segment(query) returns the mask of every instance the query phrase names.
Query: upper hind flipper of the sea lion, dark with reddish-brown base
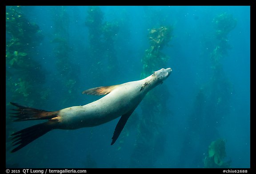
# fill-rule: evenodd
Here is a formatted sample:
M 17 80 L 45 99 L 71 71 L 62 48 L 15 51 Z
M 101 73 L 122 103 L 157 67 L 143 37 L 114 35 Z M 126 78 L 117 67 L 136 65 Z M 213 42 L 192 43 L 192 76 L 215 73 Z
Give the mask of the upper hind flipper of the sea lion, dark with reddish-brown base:
M 12 105 L 16 106 L 16 109 L 12 109 L 13 111 L 17 111 L 12 117 L 17 118 L 13 121 L 26 121 L 26 120 L 48 120 L 58 116 L 59 111 L 51 112 L 51 111 L 44 111 L 35 108 L 29 108 L 26 106 L 21 106 L 17 103 L 12 103 Z

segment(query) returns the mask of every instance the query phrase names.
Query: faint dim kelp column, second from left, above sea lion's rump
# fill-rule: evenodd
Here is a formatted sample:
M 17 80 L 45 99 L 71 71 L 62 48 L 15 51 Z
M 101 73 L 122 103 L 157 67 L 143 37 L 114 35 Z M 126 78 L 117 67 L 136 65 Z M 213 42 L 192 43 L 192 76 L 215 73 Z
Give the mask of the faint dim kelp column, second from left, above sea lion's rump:
M 52 7 L 52 20 L 54 37 L 51 43 L 54 45 L 53 53 L 56 57 L 56 70 L 58 71 L 63 90 L 69 97 L 63 98 L 62 102 L 74 98 L 72 92 L 74 91 L 75 85 L 79 81 L 79 68 L 72 62 L 71 46 L 69 43 L 69 26 L 70 19 L 69 14 L 65 6 L 54 6 Z

